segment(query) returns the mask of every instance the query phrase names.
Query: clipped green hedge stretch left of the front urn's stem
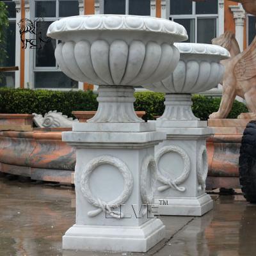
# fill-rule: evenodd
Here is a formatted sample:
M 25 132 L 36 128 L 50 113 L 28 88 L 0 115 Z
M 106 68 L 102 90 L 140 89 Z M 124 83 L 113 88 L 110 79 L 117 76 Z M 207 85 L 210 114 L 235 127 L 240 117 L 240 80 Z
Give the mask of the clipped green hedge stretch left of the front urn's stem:
M 83 91 L 51 91 L 29 89 L 0 90 L 1 113 L 47 113 L 57 110 L 64 115 L 72 116 L 75 110 L 97 110 L 97 95 Z

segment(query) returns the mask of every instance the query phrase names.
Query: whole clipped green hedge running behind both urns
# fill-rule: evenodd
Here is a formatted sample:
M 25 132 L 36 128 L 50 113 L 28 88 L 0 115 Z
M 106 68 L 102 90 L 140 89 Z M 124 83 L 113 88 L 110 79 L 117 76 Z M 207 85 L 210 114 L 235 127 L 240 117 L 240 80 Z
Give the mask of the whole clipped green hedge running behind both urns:
M 136 111 L 146 111 L 146 120 L 153 116 L 162 115 L 164 111 L 164 94 L 154 92 L 136 92 Z M 50 110 L 57 110 L 64 115 L 72 116 L 72 111 L 97 110 L 97 95 L 83 91 L 51 91 L 29 89 L 0 89 L 0 113 L 38 113 L 44 114 Z M 200 95 L 193 96 L 193 112 L 201 120 L 218 110 L 220 98 L 209 98 Z M 235 102 L 228 118 L 247 112 L 246 106 Z

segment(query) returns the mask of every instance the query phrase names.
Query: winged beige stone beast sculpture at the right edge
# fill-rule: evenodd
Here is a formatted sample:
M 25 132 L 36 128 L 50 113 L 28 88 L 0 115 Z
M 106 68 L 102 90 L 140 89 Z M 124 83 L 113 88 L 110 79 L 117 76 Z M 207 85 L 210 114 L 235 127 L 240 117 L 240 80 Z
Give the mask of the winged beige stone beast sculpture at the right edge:
M 212 44 L 221 45 L 230 51 L 231 58 L 221 61 L 225 66 L 223 76 L 223 95 L 218 112 L 209 118 L 226 118 L 232 108 L 236 96 L 246 101 L 249 113 L 241 113 L 237 118 L 256 118 L 256 37 L 243 52 L 234 33 L 226 31 L 212 40 Z

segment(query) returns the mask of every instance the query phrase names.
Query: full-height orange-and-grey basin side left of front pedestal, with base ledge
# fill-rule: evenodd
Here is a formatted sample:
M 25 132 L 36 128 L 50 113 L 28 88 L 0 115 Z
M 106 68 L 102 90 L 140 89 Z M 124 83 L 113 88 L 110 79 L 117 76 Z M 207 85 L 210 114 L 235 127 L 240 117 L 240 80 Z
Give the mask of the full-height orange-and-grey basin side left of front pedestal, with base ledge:
M 72 182 L 76 150 L 61 140 L 70 129 L 0 131 L 0 172 L 34 180 Z

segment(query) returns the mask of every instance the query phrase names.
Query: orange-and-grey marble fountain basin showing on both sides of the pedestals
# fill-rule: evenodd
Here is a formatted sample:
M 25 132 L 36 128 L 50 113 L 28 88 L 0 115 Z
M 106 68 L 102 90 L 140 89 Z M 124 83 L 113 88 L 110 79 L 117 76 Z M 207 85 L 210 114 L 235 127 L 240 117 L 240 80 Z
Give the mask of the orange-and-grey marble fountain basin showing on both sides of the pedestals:
M 215 131 L 207 141 L 210 189 L 239 188 L 238 158 L 244 127 L 239 132 L 228 128 L 228 134 Z M 0 172 L 74 184 L 76 150 L 61 141 L 61 132 L 70 130 L 0 131 Z

